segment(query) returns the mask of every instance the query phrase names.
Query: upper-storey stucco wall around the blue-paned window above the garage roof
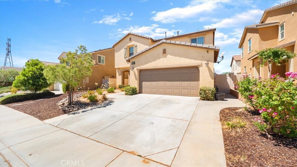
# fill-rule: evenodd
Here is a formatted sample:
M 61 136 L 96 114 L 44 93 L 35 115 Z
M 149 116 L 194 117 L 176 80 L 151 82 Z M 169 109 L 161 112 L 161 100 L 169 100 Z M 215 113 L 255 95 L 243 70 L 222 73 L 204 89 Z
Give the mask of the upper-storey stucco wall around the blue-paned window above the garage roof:
M 170 40 L 180 41 L 180 42 L 191 42 L 192 38 L 197 38 L 197 37 L 204 37 L 204 43 L 206 45 L 214 45 L 213 32 L 207 32 L 207 33 L 196 34 L 196 35 L 185 36 L 185 37 L 176 37 L 176 38 L 171 38 Z

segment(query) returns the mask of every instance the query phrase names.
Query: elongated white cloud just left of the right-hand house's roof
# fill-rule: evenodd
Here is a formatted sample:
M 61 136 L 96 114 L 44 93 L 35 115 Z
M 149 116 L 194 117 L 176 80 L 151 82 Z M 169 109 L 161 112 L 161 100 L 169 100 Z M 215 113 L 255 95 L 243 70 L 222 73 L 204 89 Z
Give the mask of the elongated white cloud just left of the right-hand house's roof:
M 262 10 L 253 9 L 247 12 L 236 14 L 230 18 L 225 18 L 217 23 L 206 25 L 204 26 L 204 28 L 230 28 L 238 27 L 241 25 L 253 24 L 259 18 L 261 18 L 262 14 Z

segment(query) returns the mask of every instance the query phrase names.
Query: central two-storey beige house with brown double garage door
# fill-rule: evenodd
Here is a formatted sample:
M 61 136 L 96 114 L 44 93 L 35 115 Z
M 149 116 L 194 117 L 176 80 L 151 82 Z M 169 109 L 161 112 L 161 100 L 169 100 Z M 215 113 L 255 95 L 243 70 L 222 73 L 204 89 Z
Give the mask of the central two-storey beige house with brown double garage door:
M 159 40 L 128 33 L 113 45 L 116 85 L 128 78 L 138 93 L 199 96 L 201 86 L 214 87 L 215 30 Z

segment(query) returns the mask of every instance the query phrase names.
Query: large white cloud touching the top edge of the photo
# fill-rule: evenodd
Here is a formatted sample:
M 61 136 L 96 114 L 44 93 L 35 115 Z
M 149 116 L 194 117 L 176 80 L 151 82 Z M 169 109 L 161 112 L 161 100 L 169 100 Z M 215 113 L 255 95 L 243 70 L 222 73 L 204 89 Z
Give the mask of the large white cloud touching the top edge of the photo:
M 191 1 L 187 7 L 176 7 L 163 12 L 157 12 L 151 19 L 161 23 L 175 23 L 197 18 L 200 13 L 217 10 L 225 1 Z

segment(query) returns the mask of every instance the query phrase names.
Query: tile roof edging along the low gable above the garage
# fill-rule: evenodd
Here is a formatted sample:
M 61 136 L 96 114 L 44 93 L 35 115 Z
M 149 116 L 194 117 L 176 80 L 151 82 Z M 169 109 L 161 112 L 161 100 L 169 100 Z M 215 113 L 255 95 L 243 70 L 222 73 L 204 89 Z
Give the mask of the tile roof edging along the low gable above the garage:
M 213 45 L 202 45 L 202 44 L 196 44 L 196 43 L 190 43 L 190 42 L 180 42 L 180 41 L 170 41 L 170 40 L 161 40 L 157 43 L 155 43 L 154 45 L 151 45 L 150 47 L 136 53 L 135 55 L 131 56 L 131 57 L 128 57 L 126 58 L 126 61 L 129 61 L 130 59 L 162 44 L 162 43 L 170 43 L 170 44 L 176 44 L 176 45 L 184 45 L 184 46 L 193 46 L 193 47 L 198 47 L 198 48 L 205 48 L 205 49 L 213 49 L 213 50 L 217 50 L 219 51 L 220 47 L 218 46 L 213 46 Z

